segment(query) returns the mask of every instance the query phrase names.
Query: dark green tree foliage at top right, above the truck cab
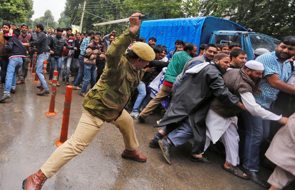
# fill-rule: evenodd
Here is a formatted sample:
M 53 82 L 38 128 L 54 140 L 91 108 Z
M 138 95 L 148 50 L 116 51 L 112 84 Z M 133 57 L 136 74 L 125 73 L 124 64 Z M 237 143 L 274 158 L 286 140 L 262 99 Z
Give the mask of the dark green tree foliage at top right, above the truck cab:
M 294 0 L 202 0 L 200 16 L 230 16 L 245 28 L 281 39 L 295 30 Z

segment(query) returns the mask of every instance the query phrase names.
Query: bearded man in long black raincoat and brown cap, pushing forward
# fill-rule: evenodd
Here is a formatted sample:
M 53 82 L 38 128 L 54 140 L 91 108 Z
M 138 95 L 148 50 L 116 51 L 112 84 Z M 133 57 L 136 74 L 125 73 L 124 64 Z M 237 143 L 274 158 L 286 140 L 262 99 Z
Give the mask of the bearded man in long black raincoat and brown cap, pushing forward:
M 205 118 L 211 99 L 216 96 L 226 104 L 237 104 L 243 107 L 239 97 L 233 95 L 224 86 L 222 74 L 229 66 L 229 55 L 217 54 L 211 63 L 205 62 L 186 71 L 188 76 L 178 87 L 159 124 L 159 126 L 165 126 L 163 130 L 166 134 L 169 133 L 168 139 L 158 140 L 169 164 L 171 164 L 170 147 L 179 146 L 191 138 L 194 138 L 194 145 L 190 159 L 210 163 L 207 158 L 202 156 L 202 153 L 206 142 Z

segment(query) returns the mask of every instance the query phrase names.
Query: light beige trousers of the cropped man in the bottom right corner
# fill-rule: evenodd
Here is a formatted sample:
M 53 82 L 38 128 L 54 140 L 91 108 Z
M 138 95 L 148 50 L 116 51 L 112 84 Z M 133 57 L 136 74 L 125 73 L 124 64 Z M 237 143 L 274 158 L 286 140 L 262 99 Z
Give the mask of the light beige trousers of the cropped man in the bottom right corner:
M 283 168 L 276 166 L 275 170 L 268 179 L 268 183 L 272 184 L 276 188 L 283 189 L 284 186 L 289 185 L 295 176 L 289 171 L 284 170 Z

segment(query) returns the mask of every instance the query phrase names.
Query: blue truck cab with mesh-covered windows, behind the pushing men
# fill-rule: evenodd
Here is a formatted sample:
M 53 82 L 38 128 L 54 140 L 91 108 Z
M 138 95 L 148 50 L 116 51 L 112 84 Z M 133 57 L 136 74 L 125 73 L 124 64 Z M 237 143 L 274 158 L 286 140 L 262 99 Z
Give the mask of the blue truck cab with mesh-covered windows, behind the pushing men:
M 247 61 L 254 58 L 254 51 L 258 48 L 265 48 L 268 51 L 275 51 L 278 39 L 272 38 L 264 34 L 248 31 L 214 31 L 209 40 L 209 44 L 221 43 L 239 43 L 242 50 L 247 52 Z

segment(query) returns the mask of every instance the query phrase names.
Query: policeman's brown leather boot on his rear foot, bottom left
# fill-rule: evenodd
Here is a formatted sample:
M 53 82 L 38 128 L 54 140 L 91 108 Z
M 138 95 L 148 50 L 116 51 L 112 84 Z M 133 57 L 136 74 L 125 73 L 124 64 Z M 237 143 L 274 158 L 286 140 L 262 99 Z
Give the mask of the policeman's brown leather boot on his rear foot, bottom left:
M 43 174 L 41 169 L 36 174 L 32 174 L 22 182 L 22 189 L 24 190 L 40 190 L 46 181 L 47 177 Z

